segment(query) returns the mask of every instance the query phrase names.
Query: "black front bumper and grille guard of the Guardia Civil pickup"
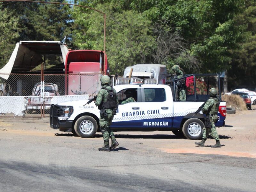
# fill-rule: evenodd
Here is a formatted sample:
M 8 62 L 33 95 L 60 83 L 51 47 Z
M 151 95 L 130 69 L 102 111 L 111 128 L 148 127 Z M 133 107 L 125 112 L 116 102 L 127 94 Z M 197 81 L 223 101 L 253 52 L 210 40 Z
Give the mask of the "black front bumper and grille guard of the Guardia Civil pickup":
M 60 120 L 57 116 L 57 105 L 52 104 L 50 108 L 50 126 L 53 129 L 60 129 L 62 132 L 71 132 L 73 120 Z

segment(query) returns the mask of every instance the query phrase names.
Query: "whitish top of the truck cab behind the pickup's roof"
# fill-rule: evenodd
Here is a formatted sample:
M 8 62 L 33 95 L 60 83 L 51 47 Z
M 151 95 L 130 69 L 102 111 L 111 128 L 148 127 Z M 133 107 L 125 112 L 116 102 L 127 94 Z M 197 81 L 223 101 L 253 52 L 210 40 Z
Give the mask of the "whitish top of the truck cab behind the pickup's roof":
M 130 73 L 131 68 L 133 68 L 133 72 L 150 72 L 153 73 L 154 78 L 158 83 L 161 82 L 162 79 L 165 78 L 164 74 L 167 74 L 166 66 L 160 64 L 137 64 L 124 69 L 124 77 L 126 77 L 127 73 Z M 133 76 L 133 75 L 132 75 Z

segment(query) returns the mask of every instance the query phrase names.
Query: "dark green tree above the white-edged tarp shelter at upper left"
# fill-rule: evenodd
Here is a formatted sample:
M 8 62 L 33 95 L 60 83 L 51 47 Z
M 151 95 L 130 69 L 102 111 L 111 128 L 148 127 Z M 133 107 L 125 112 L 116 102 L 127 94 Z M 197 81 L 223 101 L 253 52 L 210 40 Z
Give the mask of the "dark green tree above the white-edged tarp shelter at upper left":
M 64 0 L 53 2 L 65 2 Z M 19 40 L 60 41 L 70 36 L 69 6 L 31 2 L 5 2 L 3 6 L 19 18 Z

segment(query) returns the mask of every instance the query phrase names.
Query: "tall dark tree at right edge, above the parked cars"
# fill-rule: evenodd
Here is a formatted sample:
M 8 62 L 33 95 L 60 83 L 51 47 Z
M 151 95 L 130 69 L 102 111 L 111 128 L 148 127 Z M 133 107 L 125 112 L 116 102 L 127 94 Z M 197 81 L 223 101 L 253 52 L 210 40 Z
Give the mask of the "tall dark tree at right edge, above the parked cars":
M 246 1 L 246 9 L 239 14 L 236 25 L 246 25 L 244 42 L 241 49 L 231 50 L 231 68 L 228 70 L 228 88 L 247 86 L 252 90 L 256 84 L 256 4 L 254 0 Z

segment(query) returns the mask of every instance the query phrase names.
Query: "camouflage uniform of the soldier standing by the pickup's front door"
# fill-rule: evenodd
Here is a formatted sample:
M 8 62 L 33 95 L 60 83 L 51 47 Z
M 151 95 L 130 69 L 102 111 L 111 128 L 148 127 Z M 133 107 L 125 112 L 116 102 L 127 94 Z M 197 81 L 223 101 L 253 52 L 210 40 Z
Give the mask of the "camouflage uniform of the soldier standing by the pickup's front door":
M 108 90 L 111 90 L 111 87 L 109 85 L 103 85 L 102 88 L 107 88 Z M 114 94 L 116 94 L 116 90 L 113 88 Z M 95 100 L 95 105 L 99 106 L 101 102 L 106 102 L 108 98 L 108 91 L 105 89 L 101 89 L 97 95 L 97 99 Z M 116 104 L 118 104 L 118 99 L 116 97 Z M 113 131 L 109 128 L 113 117 L 115 115 L 115 110 L 112 109 L 105 109 L 106 114 L 100 114 L 100 131 L 103 135 L 103 140 L 109 140 L 109 137 L 111 140 L 115 140 L 115 135 Z

